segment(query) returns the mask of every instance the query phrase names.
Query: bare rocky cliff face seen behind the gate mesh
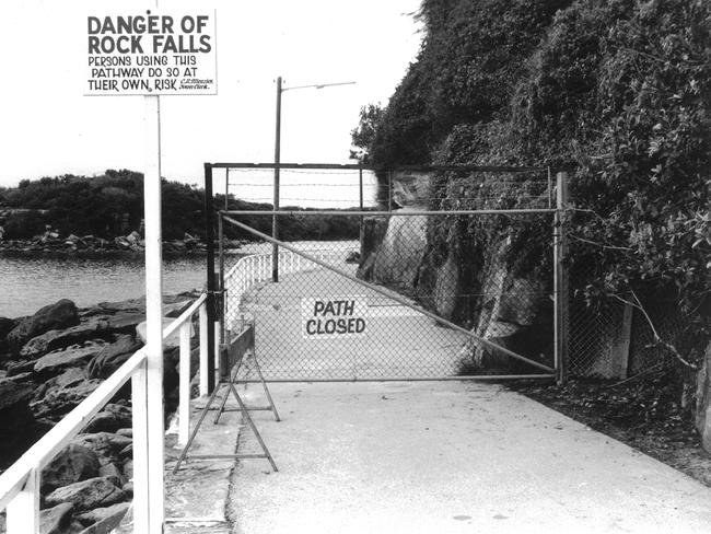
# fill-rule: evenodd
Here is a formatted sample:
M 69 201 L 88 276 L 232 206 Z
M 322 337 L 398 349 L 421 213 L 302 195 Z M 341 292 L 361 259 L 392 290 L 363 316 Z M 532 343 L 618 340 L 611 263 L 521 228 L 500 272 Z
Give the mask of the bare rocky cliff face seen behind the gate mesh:
M 430 176 L 395 174 L 393 199 L 400 212 L 428 209 Z M 369 218 L 359 277 L 397 287 L 443 318 L 523 356 L 552 362 L 552 275 L 527 268 L 505 232 L 487 249 L 473 245 L 468 216 Z M 456 219 L 456 220 L 455 220 Z M 439 231 L 433 225 L 439 224 Z M 464 228 L 456 230 L 455 227 Z M 444 231 L 443 231 L 444 229 Z M 532 372 L 524 363 L 471 341 L 462 348 L 467 372 Z

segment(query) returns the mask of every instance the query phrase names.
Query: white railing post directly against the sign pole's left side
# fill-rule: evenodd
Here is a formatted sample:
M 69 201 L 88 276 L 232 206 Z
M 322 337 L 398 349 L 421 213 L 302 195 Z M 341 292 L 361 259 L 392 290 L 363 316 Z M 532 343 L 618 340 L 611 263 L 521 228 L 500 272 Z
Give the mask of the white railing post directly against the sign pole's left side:
M 131 376 L 131 408 L 133 427 L 133 532 L 150 532 L 148 473 L 148 384 L 147 362 Z

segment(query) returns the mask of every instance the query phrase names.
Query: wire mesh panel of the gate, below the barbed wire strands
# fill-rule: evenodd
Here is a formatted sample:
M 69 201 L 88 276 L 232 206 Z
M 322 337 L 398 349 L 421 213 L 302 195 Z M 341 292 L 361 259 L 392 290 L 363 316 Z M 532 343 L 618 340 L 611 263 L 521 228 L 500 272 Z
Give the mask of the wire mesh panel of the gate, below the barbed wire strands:
M 299 216 L 279 217 L 285 227 Z M 361 216 L 338 217 L 347 225 Z M 284 243 L 277 283 L 271 245 L 250 245 L 225 266 L 226 327 L 254 317 L 267 380 L 550 374 L 551 218 L 536 218 L 369 216 L 362 244 L 359 230 Z M 473 236 L 496 227 L 515 230 L 477 248 Z M 459 246 L 433 246 L 446 235 Z

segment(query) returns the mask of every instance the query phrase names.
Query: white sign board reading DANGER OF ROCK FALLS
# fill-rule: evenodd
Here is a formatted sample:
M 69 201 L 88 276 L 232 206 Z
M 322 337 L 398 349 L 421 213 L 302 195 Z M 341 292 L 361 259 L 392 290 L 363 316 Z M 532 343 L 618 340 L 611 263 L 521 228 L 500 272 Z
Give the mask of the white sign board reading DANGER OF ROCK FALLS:
M 86 16 L 85 95 L 217 94 L 214 11 Z

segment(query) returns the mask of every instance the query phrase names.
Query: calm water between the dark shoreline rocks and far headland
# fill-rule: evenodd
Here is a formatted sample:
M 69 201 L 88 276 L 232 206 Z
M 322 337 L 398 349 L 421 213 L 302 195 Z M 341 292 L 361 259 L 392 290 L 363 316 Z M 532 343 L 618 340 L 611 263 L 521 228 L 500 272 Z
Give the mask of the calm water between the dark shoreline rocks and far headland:
M 165 259 L 163 292 L 201 289 L 206 256 Z M 59 299 L 79 307 L 123 301 L 144 293 L 143 257 L 1 257 L 0 316 L 31 315 Z

